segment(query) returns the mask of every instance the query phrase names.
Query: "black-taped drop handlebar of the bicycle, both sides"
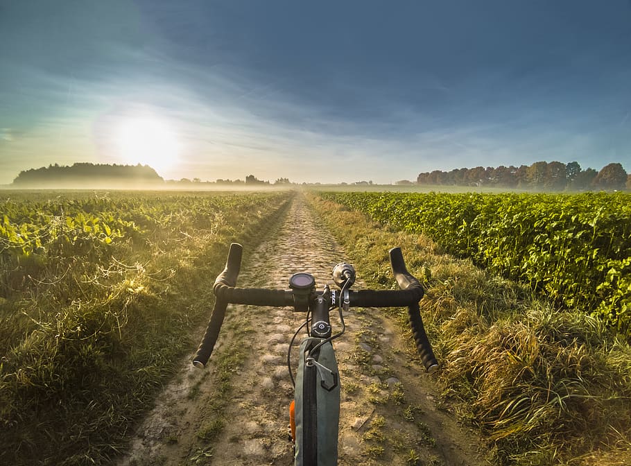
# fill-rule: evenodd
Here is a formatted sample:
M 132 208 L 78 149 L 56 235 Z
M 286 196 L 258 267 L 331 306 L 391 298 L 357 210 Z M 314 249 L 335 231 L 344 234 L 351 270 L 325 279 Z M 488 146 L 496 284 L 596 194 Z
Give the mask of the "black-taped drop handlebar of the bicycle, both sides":
M 257 306 L 286 307 L 294 306 L 292 290 L 272 290 L 266 288 L 235 288 L 236 279 L 241 268 L 243 247 L 238 243 L 230 245 L 230 252 L 225 268 L 215 280 L 213 291 L 216 296 L 215 306 L 202 343 L 193 358 L 193 365 L 203 368 L 217 341 L 219 330 L 225 317 L 228 303 L 253 304 Z M 406 269 L 401 248 L 390 250 L 390 264 L 401 290 L 360 290 L 349 291 L 349 305 L 351 307 L 408 307 L 410 327 L 427 372 L 434 372 L 438 368 L 429 339 L 425 333 L 423 320 L 420 315 L 418 302 L 423 297 L 423 288 L 419 281 L 410 275 Z M 333 293 L 336 293 L 335 291 Z M 322 294 L 321 291 L 315 295 Z M 338 297 L 339 300 L 339 297 Z

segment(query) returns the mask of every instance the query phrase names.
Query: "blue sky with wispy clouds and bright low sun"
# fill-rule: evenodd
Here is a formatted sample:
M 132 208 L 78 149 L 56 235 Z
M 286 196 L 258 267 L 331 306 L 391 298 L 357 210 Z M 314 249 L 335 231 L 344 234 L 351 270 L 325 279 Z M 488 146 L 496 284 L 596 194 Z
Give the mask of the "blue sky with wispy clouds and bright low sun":
M 0 184 L 631 172 L 631 1 L 0 0 Z

